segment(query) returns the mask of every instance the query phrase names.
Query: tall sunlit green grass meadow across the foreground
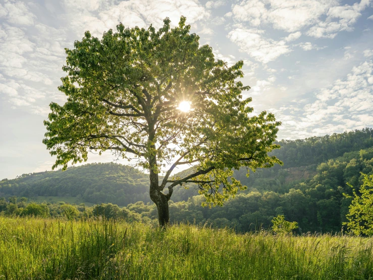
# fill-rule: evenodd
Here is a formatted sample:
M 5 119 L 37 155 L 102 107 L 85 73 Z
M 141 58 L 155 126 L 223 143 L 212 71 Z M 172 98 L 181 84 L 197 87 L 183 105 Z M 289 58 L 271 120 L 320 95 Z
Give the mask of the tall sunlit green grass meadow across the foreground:
M 0 279 L 372 279 L 373 239 L 0 216 Z

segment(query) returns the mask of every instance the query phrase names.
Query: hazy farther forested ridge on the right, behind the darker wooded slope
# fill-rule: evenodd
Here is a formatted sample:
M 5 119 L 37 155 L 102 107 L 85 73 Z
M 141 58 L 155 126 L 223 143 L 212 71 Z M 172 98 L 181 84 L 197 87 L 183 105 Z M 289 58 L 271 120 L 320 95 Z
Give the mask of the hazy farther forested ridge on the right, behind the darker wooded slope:
M 373 129 L 334 133 L 333 135 L 315 136 L 306 139 L 281 141 L 281 149 L 274 150 L 272 155 L 284 162 L 283 166 L 275 165 L 271 168 L 261 168 L 255 173 L 250 172 L 246 177 L 246 170 L 235 171 L 235 177 L 239 179 L 247 190 L 252 191 L 273 191 L 279 194 L 289 192 L 297 183 L 311 178 L 316 174 L 316 167 L 330 159 L 343 156 L 349 152 L 359 152 L 373 147 Z M 357 154 L 353 157 L 359 159 Z M 359 176 L 357 171 L 356 176 Z M 173 201 L 187 200 L 195 194 L 193 186 L 189 190 L 177 188 L 172 196 Z

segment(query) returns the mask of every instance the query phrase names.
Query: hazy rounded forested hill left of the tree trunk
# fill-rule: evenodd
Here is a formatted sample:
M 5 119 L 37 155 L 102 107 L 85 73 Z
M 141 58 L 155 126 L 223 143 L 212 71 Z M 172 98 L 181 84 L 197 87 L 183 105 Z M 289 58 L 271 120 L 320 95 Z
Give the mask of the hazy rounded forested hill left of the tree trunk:
M 150 201 L 148 175 L 129 166 L 94 163 L 68 168 L 23 174 L 0 181 L 0 197 L 35 198 L 75 197 L 77 202 L 115 203 L 125 206 L 136 201 Z

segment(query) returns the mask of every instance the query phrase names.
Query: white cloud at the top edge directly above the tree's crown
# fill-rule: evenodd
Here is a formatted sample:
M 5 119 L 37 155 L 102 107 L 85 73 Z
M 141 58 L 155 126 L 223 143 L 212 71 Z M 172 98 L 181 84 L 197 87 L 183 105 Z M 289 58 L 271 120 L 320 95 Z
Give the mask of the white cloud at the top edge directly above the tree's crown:
M 99 36 L 110 28 L 115 29 L 119 22 L 129 27 L 148 27 L 153 24 L 159 28 L 166 17 L 170 18 L 173 25 L 177 25 L 182 15 L 187 17 L 189 24 L 210 16 L 198 0 L 129 0 L 117 5 L 94 0 L 94 9 L 86 2 L 65 0 L 63 3 L 67 20 L 70 20 L 78 34 L 89 30 L 94 36 Z

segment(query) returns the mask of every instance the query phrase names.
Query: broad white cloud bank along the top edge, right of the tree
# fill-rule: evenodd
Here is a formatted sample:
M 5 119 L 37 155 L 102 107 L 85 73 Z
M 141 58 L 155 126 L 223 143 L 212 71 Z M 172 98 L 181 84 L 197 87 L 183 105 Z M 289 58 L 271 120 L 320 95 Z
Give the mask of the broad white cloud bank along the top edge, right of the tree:
M 235 4 L 232 12 L 235 20 L 251 26 L 270 24 L 286 32 L 310 27 L 309 36 L 334 38 L 340 31 L 353 30 L 369 2 L 341 6 L 335 0 L 244 0 Z M 320 21 L 323 16 L 325 21 Z

